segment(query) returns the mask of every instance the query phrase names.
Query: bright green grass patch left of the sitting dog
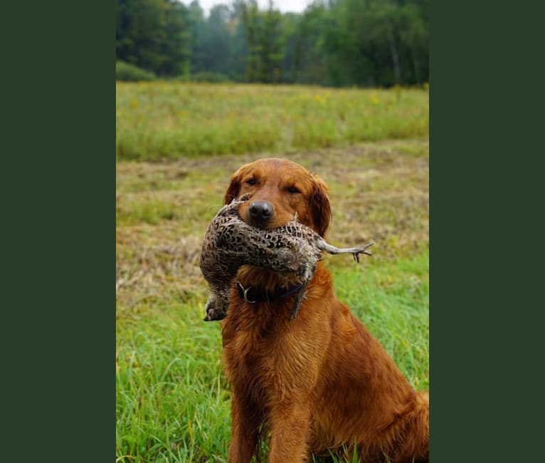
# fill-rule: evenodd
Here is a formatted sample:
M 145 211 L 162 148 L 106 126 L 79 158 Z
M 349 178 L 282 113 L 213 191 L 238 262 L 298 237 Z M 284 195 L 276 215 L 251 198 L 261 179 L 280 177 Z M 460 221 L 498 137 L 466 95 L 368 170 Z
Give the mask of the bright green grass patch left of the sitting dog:
M 118 323 L 117 456 L 120 461 L 219 461 L 229 435 L 217 326 L 198 303 L 139 307 Z

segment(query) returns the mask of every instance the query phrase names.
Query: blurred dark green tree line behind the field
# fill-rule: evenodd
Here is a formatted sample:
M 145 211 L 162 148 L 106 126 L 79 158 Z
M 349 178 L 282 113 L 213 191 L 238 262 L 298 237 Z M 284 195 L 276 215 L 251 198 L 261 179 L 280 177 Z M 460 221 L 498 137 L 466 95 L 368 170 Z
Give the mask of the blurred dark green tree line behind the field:
M 117 60 L 164 78 L 333 86 L 429 80 L 428 0 L 117 0 Z

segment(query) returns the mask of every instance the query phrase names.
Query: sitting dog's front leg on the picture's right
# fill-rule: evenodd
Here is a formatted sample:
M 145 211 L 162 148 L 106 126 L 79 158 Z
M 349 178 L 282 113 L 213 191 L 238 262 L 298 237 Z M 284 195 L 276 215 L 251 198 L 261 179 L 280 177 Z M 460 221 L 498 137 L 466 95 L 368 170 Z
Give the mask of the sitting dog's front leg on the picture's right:
M 309 410 L 302 405 L 275 407 L 270 416 L 269 463 L 307 461 Z

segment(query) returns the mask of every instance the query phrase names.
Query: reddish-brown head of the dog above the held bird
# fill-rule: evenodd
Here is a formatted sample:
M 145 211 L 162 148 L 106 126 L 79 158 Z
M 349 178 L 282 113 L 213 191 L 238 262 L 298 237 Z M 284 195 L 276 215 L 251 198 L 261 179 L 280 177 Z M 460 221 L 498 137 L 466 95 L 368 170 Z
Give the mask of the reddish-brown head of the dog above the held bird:
M 240 167 L 231 177 L 225 203 L 246 193 L 250 199 L 238 210 L 254 227 L 282 227 L 297 214 L 302 224 L 324 236 L 332 219 L 326 184 L 289 160 L 265 158 Z

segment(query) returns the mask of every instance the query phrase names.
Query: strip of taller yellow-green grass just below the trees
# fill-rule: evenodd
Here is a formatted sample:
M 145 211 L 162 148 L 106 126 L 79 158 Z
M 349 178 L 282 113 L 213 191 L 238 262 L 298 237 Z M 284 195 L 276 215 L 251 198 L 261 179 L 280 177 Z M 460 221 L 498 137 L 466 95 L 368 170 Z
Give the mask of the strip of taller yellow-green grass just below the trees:
M 428 90 L 117 83 L 117 159 L 288 152 L 427 137 Z

